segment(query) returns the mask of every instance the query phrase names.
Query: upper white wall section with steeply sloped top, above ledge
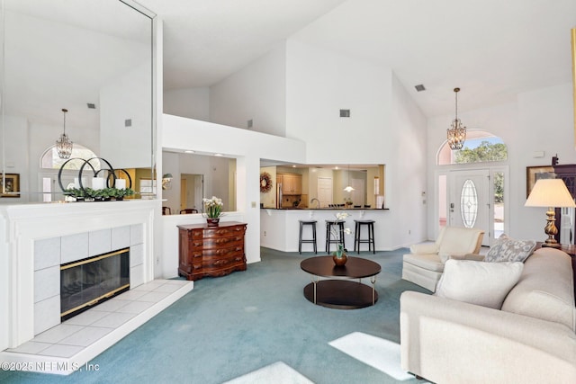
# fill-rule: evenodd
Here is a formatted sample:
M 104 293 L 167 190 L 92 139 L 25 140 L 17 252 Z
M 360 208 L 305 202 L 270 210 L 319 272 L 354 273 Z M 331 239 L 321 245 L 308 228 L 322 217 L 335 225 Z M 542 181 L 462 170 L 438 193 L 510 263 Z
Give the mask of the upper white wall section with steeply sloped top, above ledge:
M 211 86 L 210 121 L 276 136 L 285 132 L 285 46 L 282 44 Z

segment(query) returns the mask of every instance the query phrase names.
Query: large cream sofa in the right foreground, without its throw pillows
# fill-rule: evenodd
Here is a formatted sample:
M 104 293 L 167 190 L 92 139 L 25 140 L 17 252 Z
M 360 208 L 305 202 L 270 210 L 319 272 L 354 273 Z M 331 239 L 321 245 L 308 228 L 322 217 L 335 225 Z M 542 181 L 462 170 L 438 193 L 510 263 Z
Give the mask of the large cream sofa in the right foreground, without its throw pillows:
M 401 366 L 436 383 L 575 383 L 576 310 L 569 255 L 527 258 L 501 309 L 401 294 Z

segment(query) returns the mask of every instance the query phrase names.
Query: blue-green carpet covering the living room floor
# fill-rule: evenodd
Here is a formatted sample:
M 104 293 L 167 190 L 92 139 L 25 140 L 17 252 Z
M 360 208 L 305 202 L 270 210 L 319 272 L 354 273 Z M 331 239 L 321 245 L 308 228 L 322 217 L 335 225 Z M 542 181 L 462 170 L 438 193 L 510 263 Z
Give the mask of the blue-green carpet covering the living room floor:
M 95 357 L 91 364 L 98 371 L 0 371 L 0 382 L 221 383 L 284 362 L 315 383 L 416 383 L 394 380 L 329 345 L 353 332 L 400 343 L 401 292 L 428 292 L 401 280 L 406 251 L 363 252 L 382 266 L 379 300 L 374 307 L 342 310 L 303 297 L 311 276 L 300 263 L 312 253 L 262 248 L 262 262 L 248 264 L 246 272 L 194 281 L 184 298 Z

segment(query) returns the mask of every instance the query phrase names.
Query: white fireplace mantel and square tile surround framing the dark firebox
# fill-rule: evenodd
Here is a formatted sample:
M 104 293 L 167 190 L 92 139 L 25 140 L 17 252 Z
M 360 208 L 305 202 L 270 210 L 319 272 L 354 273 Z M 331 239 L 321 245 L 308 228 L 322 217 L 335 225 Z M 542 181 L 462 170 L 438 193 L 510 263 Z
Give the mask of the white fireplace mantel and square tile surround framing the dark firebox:
M 0 351 L 18 349 L 60 326 L 60 263 L 130 246 L 130 291 L 154 281 L 153 227 L 160 204 L 133 200 L 0 206 Z

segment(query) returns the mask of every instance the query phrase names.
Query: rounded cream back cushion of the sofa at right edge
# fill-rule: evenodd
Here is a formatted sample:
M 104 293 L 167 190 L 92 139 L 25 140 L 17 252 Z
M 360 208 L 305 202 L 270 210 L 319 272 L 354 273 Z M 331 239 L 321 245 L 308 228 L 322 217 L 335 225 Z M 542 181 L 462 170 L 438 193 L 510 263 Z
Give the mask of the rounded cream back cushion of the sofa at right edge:
M 570 256 L 558 249 L 536 250 L 524 263 L 522 277 L 502 310 L 554 321 L 576 331 L 571 263 Z

